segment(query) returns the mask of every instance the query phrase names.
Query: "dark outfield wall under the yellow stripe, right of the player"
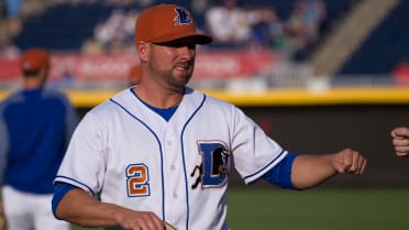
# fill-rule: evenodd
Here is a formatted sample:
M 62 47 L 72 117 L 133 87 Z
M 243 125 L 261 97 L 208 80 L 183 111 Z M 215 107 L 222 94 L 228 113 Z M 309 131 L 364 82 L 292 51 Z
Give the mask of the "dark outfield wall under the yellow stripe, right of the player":
M 243 107 L 283 147 L 327 153 L 344 147 L 368 160 L 363 176 L 342 175 L 327 185 L 409 186 L 409 158 L 399 158 L 390 130 L 409 127 L 409 105 Z

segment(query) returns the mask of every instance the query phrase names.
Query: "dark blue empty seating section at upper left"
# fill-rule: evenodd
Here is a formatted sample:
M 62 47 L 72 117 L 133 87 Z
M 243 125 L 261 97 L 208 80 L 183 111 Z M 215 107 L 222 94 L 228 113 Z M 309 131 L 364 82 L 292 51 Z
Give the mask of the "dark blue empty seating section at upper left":
M 57 4 L 42 14 L 25 20 L 14 43 L 24 50 L 42 46 L 54 51 L 79 51 L 82 42 L 93 35 L 95 25 L 115 7 L 106 4 Z

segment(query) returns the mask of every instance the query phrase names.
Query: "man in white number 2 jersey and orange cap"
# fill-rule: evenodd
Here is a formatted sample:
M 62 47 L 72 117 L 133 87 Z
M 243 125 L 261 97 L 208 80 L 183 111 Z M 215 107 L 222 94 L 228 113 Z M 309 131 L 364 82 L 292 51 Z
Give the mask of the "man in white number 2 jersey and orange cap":
M 313 187 L 338 173 L 361 175 L 366 160 L 345 149 L 297 155 L 235 106 L 186 87 L 196 45 L 191 14 L 175 4 L 144 10 L 135 26 L 142 76 L 81 120 L 54 182 L 53 211 L 85 227 L 226 230 L 230 167 L 246 184 Z M 98 195 L 99 199 L 96 199 Z

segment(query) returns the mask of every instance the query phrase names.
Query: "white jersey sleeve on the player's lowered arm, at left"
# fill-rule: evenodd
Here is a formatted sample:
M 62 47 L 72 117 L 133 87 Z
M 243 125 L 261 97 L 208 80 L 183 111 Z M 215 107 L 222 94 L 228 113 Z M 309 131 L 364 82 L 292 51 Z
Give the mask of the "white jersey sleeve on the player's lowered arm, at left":
M 106 144 L 101 123 L 87 113 L 73 133 L 54 184 L 70 184 L 95 195 L 101 189 Z

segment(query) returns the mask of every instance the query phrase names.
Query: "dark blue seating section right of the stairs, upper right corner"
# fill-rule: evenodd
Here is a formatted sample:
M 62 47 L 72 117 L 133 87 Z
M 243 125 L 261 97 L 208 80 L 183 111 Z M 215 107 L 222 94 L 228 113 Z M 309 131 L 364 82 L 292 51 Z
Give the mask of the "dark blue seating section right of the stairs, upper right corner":
M 385 77 L 396 65 L 409 59 L 409 1 L 401 0 L 342 66 L 339 76 Z

